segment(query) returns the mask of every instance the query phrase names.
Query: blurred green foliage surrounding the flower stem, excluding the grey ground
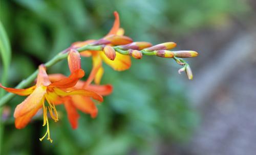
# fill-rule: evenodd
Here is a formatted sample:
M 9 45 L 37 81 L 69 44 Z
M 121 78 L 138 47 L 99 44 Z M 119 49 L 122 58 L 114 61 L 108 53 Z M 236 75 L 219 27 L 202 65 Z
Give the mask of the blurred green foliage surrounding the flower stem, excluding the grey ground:
M 249 8 L 238 0 L 4 0 L 0 19 L 13 55 L 9 86 L 15 86 L 72 42 L 104 36 L 111 28 L 115 10 L 127 36 L 155 44 L 239 17 Z M 87 75 L 91 63 L 89 58 L 82 58 Z M 39 142 L 46 130 L 40 117 L 24 130 L 16 130 L 10 117 L 5 124 L 3 154 L 159 154 L 161 144 L 172 146 L 189 138 L 199 115 L 186 99 L 186 83 L 177 75 L 178 65 L 167 59 L 144 57 L 133 60 L 127 71 L 104 68 L 102 84 L 113 84 L 114 92 L 98 105 L 96 119 L 81 114 L 79 127 L 73 131 L 59 106 L 60 121 L 50 122 L 50 144 L 47 140 Z M 48 72 L 68 74 L 67 62 Z M 23 99 L 15 97 L 8 104 L 12 111 Z

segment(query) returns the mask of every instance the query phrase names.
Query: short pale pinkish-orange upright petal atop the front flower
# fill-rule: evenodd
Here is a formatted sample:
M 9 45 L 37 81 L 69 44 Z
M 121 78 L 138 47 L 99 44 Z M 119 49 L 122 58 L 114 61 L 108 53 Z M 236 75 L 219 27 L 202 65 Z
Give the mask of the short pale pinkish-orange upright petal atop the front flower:
M 44 65 L 40 65 L 38 69 L 37 79 L 36 79 L 36 86 L 40 86 L 40 85 L 48 86 L 50 84 L 51 82 L 46 73 L 46 67 Z

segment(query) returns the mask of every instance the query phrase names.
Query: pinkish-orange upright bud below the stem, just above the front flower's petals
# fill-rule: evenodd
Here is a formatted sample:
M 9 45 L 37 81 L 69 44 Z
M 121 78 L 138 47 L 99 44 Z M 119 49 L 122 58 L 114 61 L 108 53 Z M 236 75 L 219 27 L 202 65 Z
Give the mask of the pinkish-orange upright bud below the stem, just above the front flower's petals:
M 70 49 L 68 55 L 68 63 L 71 73 L 73 73 L 77 69 L 81 69 L 81 58 L 79 52 L 76 49 Z

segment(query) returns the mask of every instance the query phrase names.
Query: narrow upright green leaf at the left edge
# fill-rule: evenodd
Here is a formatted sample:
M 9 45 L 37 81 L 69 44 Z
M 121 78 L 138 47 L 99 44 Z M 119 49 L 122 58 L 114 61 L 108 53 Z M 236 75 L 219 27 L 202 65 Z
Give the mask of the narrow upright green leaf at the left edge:
M 11 62 L 11 47 L 10 42 L 8 40 L 7 33 L 4 29 L 2 22 L 0 21 L 0 56 L 2 58 L 2 71 L 0 74 L 1 83 L 6 85 L 7 77 L 8 77 L 8 70 Z M 0 91 L 0 96 L 4 94 L 4 91 Z

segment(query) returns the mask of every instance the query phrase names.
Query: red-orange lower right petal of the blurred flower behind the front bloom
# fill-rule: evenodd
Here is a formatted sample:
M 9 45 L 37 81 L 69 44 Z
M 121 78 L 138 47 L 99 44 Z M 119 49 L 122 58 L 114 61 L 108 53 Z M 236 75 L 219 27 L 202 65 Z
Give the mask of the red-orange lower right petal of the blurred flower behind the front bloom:
M 92 118 L 95 118 L 98 114 L 98 109 L 90 97 L 83 97 L 81 95 L 73 95 L 72 101 L 74 106 L 83 113 L 90 114 Z

